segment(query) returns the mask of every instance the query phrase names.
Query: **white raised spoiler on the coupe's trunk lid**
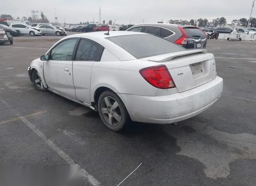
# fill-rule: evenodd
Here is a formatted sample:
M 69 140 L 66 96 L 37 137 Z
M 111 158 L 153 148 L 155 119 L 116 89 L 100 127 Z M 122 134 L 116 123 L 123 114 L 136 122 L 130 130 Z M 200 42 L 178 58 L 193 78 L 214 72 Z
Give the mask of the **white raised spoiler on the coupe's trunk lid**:
M 180 57 L 180 56 L 189 55 L 192 53 L 206 53 L 206 52 L 207 52 L 207 49 L 194 49 L 194 50 L 178 51 L 174 53 L 167 53 L 163 55 L 157 55 L 154 57 L 147 57 L 144 59 L 148 61 L 154 61 L 154 62 L 164 62 L 164 61 L 170 61 L 174 57 Z

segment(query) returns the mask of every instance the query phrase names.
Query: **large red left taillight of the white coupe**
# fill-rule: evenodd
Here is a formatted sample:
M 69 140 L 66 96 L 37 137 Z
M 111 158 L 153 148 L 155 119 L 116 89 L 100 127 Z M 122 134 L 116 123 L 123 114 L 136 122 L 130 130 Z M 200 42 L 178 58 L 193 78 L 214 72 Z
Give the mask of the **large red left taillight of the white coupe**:
M 171 89 L 176 87 L 166 65 L 140 69 L 140 75 L 142 75 L 150 85 L 158 89 Z

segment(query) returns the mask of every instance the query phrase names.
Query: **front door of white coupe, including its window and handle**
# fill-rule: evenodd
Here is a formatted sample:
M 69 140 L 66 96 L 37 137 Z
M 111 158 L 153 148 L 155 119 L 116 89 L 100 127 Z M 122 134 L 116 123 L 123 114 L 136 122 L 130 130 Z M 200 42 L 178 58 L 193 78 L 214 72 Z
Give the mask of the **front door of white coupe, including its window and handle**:
M 44 79 L 47 86 L 68 97 L 75 98 L 72 63 L 78 39 L 71 38 L 57 44 L 44 61 Z

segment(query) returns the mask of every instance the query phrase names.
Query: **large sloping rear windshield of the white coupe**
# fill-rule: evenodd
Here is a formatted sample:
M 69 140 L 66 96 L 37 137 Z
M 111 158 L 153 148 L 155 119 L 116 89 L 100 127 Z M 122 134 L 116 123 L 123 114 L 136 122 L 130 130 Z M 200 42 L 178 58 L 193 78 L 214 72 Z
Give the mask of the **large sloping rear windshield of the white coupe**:
M 137 59 L 186 50 L 168 40 L 149 34 L 115 36 L 106 39 L 122 47 Z

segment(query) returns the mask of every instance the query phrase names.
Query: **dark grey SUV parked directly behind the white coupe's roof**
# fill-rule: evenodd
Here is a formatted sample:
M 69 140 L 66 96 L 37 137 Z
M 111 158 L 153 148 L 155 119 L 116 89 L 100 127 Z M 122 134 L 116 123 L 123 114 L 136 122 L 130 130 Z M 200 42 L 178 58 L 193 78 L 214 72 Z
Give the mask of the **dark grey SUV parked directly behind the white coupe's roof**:
M 206 48 L 206 34 L 199 28 L 191 25 L 176 24 L 137 24 L 126 31 L 146 32 L 171 42 L 186 49 Z

